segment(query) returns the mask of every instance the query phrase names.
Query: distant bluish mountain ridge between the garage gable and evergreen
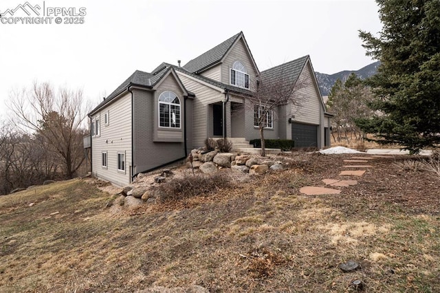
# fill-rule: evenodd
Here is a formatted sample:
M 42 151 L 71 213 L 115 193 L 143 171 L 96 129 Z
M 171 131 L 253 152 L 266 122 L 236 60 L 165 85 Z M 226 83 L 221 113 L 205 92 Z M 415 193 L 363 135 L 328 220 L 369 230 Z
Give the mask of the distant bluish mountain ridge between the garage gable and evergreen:
M 329 95 L 331 87 L 333 87 L 333 85 L 336 83 L 336 80 L 338 78 L 342 81 L 345 81 L 347 80 L 350 74 L 354 73 L 360 78 L 364 79 L 374 75 L 379 65 L 380 65 L 380 61 L 376 61 L 375 63 L 366 65 L 365 67 L 362 67 L 359 70 L 344 70 L 336 74 L 322 74 L 320 72 L 315 72 L 316 79 L 318 79 L 319 89 L 321 91 L 322 96 Z

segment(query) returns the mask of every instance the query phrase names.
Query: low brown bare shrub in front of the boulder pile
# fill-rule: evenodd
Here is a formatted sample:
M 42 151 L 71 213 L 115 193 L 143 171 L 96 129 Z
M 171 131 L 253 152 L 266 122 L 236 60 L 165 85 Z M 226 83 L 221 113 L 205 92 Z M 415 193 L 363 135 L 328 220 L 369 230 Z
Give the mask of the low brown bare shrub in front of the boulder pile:
M 230 186 L 230 180 L 223 174 L 187 176 L 169 180 L 157 187 L 160 200 L 180 200 L 188 197 L 209 196 L 221 188 Z

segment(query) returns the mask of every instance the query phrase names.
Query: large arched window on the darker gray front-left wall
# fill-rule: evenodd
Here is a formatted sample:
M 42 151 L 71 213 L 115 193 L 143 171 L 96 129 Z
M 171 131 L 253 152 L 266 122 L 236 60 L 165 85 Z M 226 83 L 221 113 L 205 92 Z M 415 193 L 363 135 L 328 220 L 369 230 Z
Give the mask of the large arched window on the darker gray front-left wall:
M 173 91 L 159 96 L 159 127 L 180 128 L 180 100 Z

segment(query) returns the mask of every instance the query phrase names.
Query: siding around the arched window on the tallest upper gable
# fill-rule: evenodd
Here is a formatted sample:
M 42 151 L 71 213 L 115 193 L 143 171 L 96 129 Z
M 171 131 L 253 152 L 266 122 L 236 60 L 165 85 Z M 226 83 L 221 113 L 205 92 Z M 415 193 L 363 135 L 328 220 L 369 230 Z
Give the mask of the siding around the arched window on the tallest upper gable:
M 232 50 L 225 57 L 223 64 L 221 65 L 221 82 L 226 85 L 230 85 L 230 69 L 235 61 L 241 61 L 249 74 L 250 79 L 250 90 L 255 91 L 256 89 L 256 69 L 254 63 L 252 63 L 252 58 L 246 49 L 243 39 L 240 39 Z

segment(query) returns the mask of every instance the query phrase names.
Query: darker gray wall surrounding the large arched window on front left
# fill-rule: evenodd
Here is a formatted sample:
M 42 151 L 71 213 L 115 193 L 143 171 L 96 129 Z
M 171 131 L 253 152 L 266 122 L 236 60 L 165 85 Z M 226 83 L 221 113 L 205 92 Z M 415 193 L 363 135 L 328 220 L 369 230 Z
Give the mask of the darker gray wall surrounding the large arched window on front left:
M 173 91 L 179 97 L 181 105 L 180 129 L 158 127 L 158 98 L 163 91 Z M 156 91 L 135 89 L 133 93 L 135 173 L 183 158 L 186 155 L 184 149 L 184 93 L 173 75 L 168 75 Z

